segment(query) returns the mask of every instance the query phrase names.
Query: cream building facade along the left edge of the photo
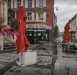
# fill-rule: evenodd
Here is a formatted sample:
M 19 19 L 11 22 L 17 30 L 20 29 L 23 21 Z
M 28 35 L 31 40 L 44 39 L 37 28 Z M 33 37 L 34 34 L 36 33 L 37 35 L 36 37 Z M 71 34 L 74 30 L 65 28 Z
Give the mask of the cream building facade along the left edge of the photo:
M 6 0 L 0 0 L 0 19 L 1 18 L 4 19 L 2 25 L 7 25 L 7 1 Z M 0 32 L 0 50 L 3 50 L 5 38 Z

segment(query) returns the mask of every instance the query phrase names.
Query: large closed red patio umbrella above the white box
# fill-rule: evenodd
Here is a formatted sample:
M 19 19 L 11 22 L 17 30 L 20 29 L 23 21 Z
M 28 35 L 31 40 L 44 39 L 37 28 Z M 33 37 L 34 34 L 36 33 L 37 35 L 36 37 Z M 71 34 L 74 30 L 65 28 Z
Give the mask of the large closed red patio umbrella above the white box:
M 17 13 L 17 19 L 18 19 L 18 36 L 16 40 L 16 45 L 17 45 L 17 54 L 19 54 L 23 50 L 27 51 L 30 45 L 25 35 L 27 15 L 26 15 L 26 10 L 24 6 L 19 6 L 18 13 Z

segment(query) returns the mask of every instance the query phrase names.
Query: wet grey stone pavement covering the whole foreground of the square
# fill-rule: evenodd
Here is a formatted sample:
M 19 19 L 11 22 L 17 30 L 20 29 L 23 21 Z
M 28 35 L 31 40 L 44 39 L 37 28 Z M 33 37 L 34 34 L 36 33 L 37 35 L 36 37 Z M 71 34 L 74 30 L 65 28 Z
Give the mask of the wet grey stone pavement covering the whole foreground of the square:
M 37 47 L 36 47 L 37 46 Z M 77 53 L 64 53 L 57 46 L 58 54 L 53 54 L 52 43 L 31 45 L 37 52 L 37 63 L 18 66 L 16 51 L 0 54 L 0 75 L 77 75 Z M 7 69 L 8 68 L 8 69 Z

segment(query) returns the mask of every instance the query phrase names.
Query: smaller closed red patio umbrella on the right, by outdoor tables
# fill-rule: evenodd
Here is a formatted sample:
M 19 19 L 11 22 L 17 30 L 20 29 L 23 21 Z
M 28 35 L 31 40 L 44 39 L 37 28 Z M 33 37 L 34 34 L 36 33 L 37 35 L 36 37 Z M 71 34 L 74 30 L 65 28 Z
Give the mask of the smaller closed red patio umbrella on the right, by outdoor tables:
M 69 32 L 70 26 L 69 23 L 67 23 L 64 27 L 64 35 L 63 35 L 63 42 L 69 43 L 70 41 L 70 32 Z

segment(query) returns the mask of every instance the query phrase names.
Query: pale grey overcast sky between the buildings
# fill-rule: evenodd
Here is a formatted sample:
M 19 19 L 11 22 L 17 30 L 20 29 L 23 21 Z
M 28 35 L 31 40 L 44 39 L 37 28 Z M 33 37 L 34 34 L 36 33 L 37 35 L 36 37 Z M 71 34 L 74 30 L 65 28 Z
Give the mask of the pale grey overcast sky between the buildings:
M 77 0 L 54 0 L 54 2 L 57 24 L 60 31 L 63 32 L 65 24 L 77 13 Z

